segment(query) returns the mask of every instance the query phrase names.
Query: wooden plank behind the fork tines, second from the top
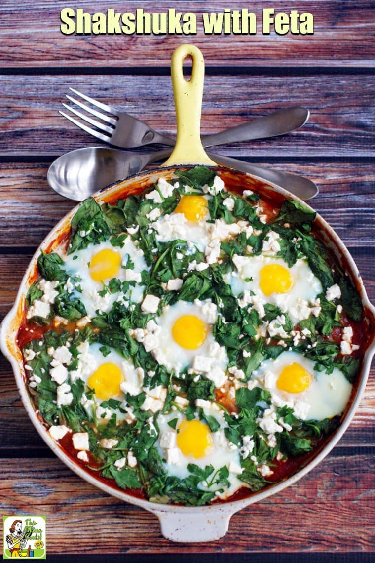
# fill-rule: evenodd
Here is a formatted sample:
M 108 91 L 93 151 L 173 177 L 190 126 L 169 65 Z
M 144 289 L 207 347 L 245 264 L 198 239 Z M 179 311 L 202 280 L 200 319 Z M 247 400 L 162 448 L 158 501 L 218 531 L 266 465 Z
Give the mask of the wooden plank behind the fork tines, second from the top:
M 0 154 L 3 155 L 28 155 L 31 150 L 34 155 L 44 155 L 47 150 L 47 154 L 58 156 L 79 146 L 101 144 L 58 113 L 64 110 L 61 102 L 65 95 L 72 95 L 69 87 L 127 111 L 156 131 L 175 135 L 169 76 L 126 74 L 116 75 L 114 79 L 103 74 L 4 75 L 0 81 L 0 122 L 5 133 L 0 138 Z M 227 86 L 229 82 L 231 88 Z M 21 99 L 14 95 L 20 91 L 24 91 Z M 311 113 L 304 128 L 272 139 L 233 144 L 230 150 L 236 155 L 253 157 L 323 154 L 372 157 L 374 99 L 375 79 L 368 75 L 323 74 L 297 79 L 261 73 L 207 76 L 201 132 L 202 136 L 209 135 L 287 106 L 303 105 Z

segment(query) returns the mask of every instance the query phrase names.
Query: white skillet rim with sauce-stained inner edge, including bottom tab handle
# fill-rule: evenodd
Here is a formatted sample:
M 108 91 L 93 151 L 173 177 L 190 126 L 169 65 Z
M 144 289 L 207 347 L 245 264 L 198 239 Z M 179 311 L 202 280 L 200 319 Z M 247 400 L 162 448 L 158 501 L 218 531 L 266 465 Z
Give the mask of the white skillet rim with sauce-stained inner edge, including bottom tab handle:
M 191 167 L 191 166 L 189 166 Z M 126 178 L 126 180 L 116 182 L 116 184 L 107 187 L 105 190 L 101 190 L 97 194 L 95 194 L 96 199 L 100 202 L 102 199 L 107 199 L 106 196 L 109 194 L 112 195 L 119 195 L 124 187 L 135 184 L 136 182 L 140 182 L 142 178 L 147 179 L 147 184 L 150 185 L 153 181 L 156 181 L 158 177 L 164 175 L 168 177 L 172 177 L 173 172 L 177 167 L 170 167 L 165 169 L 156 169 L 155 171 L 149 171 L 144 173 L 143 175 L 133 176 L 130 178 Z M 182 167 L 184 168 L 184 166 Z M 228 170 L 224 167 L 220 167 L 220 170 Z M 231 171 L 232 173 L 235 171 Z M 260 181 L 266 189 L 269 191 L 276 191 L 277 193 L 286 196 L 287 198 L 294 199 L 296 201 L 302 202 L 296 196 L 290 194 L 288 191 L 284 190 L 283 188 L 273 184 L 272 182 L 265 182 L 262 178 L 259 178 L 254 175 L 241 173 L 243 176 L 246 176 L 249 179 L 254 181 Z M 117 193 L 117 194 L 116 194 Z M 103 198 L 105 196 L 105 198 Z M 309 206 L 308 206 L 309 207 Z M 35 252 L 33 258 L 30 261 L 29 267 L 25 272 L 24 278 L 22 279 L 19 292 L 16 297 L 15 305 L 13 305 L 11 311 L 8 313 L 6 318 L 4 318 L 1 332 L 0 332 L 0 346 L 1 349 L 6 356 L 6 358 L 10 361 L 13 372 L 15 373 L 17 387 L 19 389 L 22 403 L 25 406 L 26 411 L 33 422 L 35 428 L 39 432 L 40 436 L 43 440 L 47 443 L 49 448 L 55 452 L 58 458 L 61 459 L 72 471 L 74 471 L 77 475 L 82 477 L 84 480 L 88 481 L 94 486 L 97 486 L 101 490 L 105 491 L 105 493 L 115 496 L 123 501 L 126 501 L 130 504 L 136 504 L 148 510 L 150 512 L 155 513 L 156 516 L 159 517 L 160 524 L 161 524 L 161 531 L 165 538 L 179 541 L 179 542 L 200 542 L 200 541 L 209 541 L 214 539 L 219 539 L 222 537 L 228 530 L 229 519 L 230 517 L 237 511 L 241 510 L 242 508 L 249 506 L 257 501 L 262 501 L 263 499 L 269 497 L 272 494 L 278 493 L 279 491 L 283 490 L 287 486 L 295 483 L 297 480 L 301 479 L 301 477 L 305 476 L 306 473 L 311 471 L 326 455 L 332 450 L 332 448 L 337 444 L 338 440 L 341 439 L 342 435 L 346 431 L 347 427 L 349 426 L 351 419 L 353 418 L 356 409 L 362 399 L 362 395 L 364 392 L 364 388 L 367 382 L 368 373 L 371 365 L 372 355 L 375 351 L 375 338 L 369 344 L 367 350 L 365 351 L 364 358 L 363 358 L 363 365 L 361 368 L 361 373 L 359 374 L 359 382 L 358 388 L 353 399 L 353 403 L 351 403 L 350 408 L 347 410 L 344 420 L 342 421 L 340 427 L 336 430 L 336 432 L 329 437 L 327 443 L 323 446 L 323 448 L 318 452 L 317 455 L 306 466 L 302 467 L 299 471 L 297 471 L 294 475 L 288 477 L 286 480 L 283 480 L 275 485 L 270 485 L 265 490 L 258 491 L 257 493 L 251 494 L 250 497 L 240 499 L 238 501 L 231 501 L 222 504 L 211 504 L 208 506 L 202 507 L 182 507 L 177 505 L 171 504 L 156 504 L 150 501 L 146 501 L 144 499 L 139 499 L 133 497 L 125 493 L 125 491 L 121 491 L 119 489 L 112 488 L 110 485 L 105 484 L 104 482 L 96 479 L 90 473 L 84 470 L 83 467 L 79 466 L 78 464 L 74 463 L 73 460 L 69 457 L 69 455 L 64 453 L 64 450 L 60 448 L 60 446 L 51 438 L 49 435 L 46 427 L 38 418 L 36 414 L 29 394 L 27 387 L 25 385 L 25 374 L 24 374 L 24 367 L 22 363 L 21 353 L 20 350 L 16 346 L 15 342 L 15 334 L 19 328 L 19 311 L 21 305 L 24 303 L 24 298 L 27 293 L 27 289 L 29 287 L 29 280 L 30 275 L 35 270 L 35 265 L 37 262 L 37 258 L 40 254 L 42 249 L 46 249 L 53 243 L 53 241 L 57 238 L 57 235 L 64 232 L 68 224 L 70 224 L 71 218 L 74 216 L 76 210 L 78 209 L 78 205 L 72 209 L 67 215 L 62 218 L 62 220 L 56 225 L 54 229 L 48 234 L 47 238 L 40 244 L 39 248 Z M 312 208 L 310 208 L 312 209 Z M 364 285 L 362 279 L 360 278 L 360 274 L 358 269 L 355 265 L 353 258 L 350 256 L 349 251 L 347 251 L 344 243 L 341 239 L 336 235 L 335 231 L 327 224 L 326 221 L 319 215 L 315 221 L 318 221 L 319 227 L 324 233 L 323 238 L 326 239 L 326 244 L 329 246 L 331 251 L 335 254 L 336 258 L 340 260 L 341 256 L 345 256 L 345 260 L 350 268 L 350 277 L 355 283 L 358 291 L 360 293 L 360 297 L 362 299 L 362 303 L 367 311 L 367 315 L 371 318 L 371 315 L 375 316 L 375 308 L 371 305 L 368 300 L 367 294 L 364 289 Z M 320 233 L 320 234 L 322 234 Z M 357 281 L 356 281 L 357 280 Z

